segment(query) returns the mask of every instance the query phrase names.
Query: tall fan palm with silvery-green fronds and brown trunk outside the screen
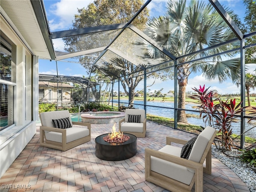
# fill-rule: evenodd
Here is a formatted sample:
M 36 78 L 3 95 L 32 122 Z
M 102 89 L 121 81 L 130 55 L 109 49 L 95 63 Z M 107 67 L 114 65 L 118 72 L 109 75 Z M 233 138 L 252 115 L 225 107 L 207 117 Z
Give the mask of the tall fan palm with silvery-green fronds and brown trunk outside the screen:
M 228 12 L 228 14 L 232 16 L 233 12 Z M 191 0 L 187 7 L 186 0 L 169 0 L 166 15 L 148 20 L 144 32 L 176 57 L 235 38 L 232 30 L 210 3 L 206 4 L 204 1 L 196 0 Z M 156 48 L 150 45 L 145 46 L 151 57 L 163 55 Z M 197 58 L 230 50 L 232 46 L 234 45 L 219 46 L 178 60 L 178 64 L 186 62 L 178 65 L 177 68 L 178 108 L 185 108 L 186 86 L 188 76 L 192 72 L 200 71 L 207 80 L 218 78 L 219 82 L 224 82 L 228 78 L 231 78 L 233 82 L 239 79 L 239 59 L 222 61 L 221 56 L 216 56 L 199 62 L 190 62 Z M 234 54 L 228 53 L 225 56 L 231 58 Z M 187 123 L 185 111 L 178 110 L 178 122 Z

